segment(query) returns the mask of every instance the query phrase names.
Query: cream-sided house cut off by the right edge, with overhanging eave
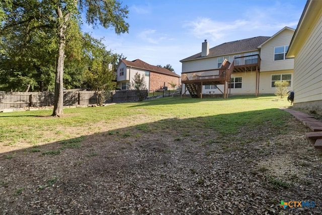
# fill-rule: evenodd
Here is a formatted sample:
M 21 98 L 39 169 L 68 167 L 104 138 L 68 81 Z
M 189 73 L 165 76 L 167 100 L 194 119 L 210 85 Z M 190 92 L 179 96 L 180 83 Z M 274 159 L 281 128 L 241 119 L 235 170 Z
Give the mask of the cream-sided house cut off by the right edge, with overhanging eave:
M 287 57 L 294 57 L 294 107 L 322 109 L 322 1 L 306 2 Z

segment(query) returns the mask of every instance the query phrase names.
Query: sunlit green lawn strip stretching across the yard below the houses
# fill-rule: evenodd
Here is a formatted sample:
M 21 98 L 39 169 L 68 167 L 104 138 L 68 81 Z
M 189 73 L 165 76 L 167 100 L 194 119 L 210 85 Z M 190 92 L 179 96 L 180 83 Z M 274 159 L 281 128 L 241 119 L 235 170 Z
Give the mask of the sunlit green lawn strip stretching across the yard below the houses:
M 62 141 L 65 147 L 71 148 L 78 147 L 78 142 L 86 135 L 103 131 L 115 134 L 115 129 L 127 127 L 144 133 L 179 129 L 182 136 L 177 137 L 178 141 L 182 137 L 193 138 L 189 136 L 191 129 L 202 132 L 203 128 L 213 128 L 221 135 L 234 135 L 240 129 L 255 126 L 283 127 L 289 113 L 278 108 L 287 107 L 289 103 L 286 98 L 276 99 L 276 96 L 169 97 L 95 108 L 67 108 L 60 118 L 51 117 L 51 110 L 0 113 L 0 142 L 5 147 L 21 144 L 31 147 Z M 131 129 L 118 134 L 117 138 L 137 136 Z M 72 138 L 78 139 L 75 142 Z M 66 139 L 72 140 L 63 142 Z

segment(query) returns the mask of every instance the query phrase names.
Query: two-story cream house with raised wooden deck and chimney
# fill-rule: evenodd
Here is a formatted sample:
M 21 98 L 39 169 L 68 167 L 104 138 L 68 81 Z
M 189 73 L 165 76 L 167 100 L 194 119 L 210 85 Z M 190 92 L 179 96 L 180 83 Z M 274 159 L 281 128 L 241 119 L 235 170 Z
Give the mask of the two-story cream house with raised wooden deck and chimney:
M 182 62 L 182 94 L 202 98 L 205 94 L 273 94 L 276 81 L 293 85 L 294 59 L 288 49 L 294 29 L 284 27 L 271 37 L 258 36 L 226 42 L 209 49 L 202 43 L 201 52 Z

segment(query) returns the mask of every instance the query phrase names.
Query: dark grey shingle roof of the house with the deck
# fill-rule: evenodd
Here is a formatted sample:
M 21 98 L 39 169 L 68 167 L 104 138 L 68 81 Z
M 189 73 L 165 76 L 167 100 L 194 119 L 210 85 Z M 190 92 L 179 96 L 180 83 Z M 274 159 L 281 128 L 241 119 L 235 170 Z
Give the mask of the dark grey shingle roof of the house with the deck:
M 228 55 L 228 54 L 233 54 L 233 53 L 256 50 L 256 49 L 258 49 L 259 45 L 264 43 L 269 38 L 270 37 L 259 36 L 259 37 L 252 37 L 252 38 L 247 38 L 247 39 L 243 39 L 243 40 L 236 40 L 236 41 L 232 41 L 232 42 L 222 43 L 220 45 L 210 48 L 209 54 L 204 57 Z M 204 57 L 201 57 L 201 52 L 199 52 L 198 54 L 195 54 L 195 55 L 192 55 L 190 57 L 180 60 L 180 62 L 200 59 L 200 58 L 204 58 Z

